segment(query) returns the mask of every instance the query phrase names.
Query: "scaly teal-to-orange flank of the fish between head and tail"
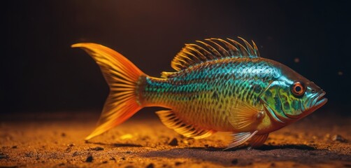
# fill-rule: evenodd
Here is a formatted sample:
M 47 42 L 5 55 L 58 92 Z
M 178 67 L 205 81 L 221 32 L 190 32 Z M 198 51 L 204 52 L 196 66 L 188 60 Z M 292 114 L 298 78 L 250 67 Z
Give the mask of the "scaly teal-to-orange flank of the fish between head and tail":
M 145 90 L 141 91 L 143 99 L 150 104 L 175 110 L 189 123 L 195 123 L 201 118 L 201 123 L 198 123 L 201 127 L 234 131 L 227 120 L 231 112 L 228 109 L 236 106 L 234 102 L 256 106 L 254 100 L 260 92 L 254 92 L 250 85 L 259 85 L 262 88 L 267 85 L 262 82 L 262 73 L 252 71 L 257 70 L 257 67 L 270 65 L 262 63 L 257 66 L 254 64 L 257 61 L 259 60 L 246 58 L 217 60 L 179 71 L 166 80 L 148 78 L 142 84 L 145 85 Z M 233 90 L 235 94 L 226 94 Z M 214 92 L 219 99 L 213 98 Z M 194 95 L 197 95 L 197 99 L 189 99 Z M 198 108 L 201 110 L 194 110 Z

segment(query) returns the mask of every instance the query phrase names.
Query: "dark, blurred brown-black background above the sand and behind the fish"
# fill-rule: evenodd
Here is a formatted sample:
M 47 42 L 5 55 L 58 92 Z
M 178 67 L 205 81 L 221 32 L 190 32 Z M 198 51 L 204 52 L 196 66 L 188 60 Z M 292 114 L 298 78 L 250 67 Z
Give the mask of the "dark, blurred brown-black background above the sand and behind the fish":
M 1 113 L 101 109 L 108 86 L 78 42 L 107 45 L 150 76 L 209 37 L 254 40 L 262 57 L 313 80 L 323 108 L 350 107 L 346 1 L 3 1 Z M 294 59 L 299 58 L 299 62 Z

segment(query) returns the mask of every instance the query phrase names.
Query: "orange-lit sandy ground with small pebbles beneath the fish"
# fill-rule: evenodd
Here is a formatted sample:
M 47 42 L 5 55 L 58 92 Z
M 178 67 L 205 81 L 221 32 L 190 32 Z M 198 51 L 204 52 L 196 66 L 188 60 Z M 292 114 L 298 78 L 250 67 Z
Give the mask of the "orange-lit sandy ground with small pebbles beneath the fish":
M 137 114 L 90 141 L 99 112 L 13 114 L 0 119 L 0 167 L 351 167 L 351 117 L 311 115 L 265 145 L 223 151 L 229 133 L 188 139 Z

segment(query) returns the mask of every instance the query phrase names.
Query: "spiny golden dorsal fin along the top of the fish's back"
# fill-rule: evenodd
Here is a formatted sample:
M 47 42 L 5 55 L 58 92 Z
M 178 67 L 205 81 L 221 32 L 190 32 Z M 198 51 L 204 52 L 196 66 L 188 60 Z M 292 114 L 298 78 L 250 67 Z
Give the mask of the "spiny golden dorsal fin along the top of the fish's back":
M 204 41 L 196 41 L 198 44 L 185 44 L 185 47 L 178 52 L 173 58 L 171 66 L 176 71 L 187 69 L 189 66 L 201 64 L 215 59 L 228 57 L 259 57 L 259 51 L 256 44 L 252 41 L 252 45 L 241 39 L 245 46 L 231 38 L 223 40 L 221 38 L 207 38 Z

